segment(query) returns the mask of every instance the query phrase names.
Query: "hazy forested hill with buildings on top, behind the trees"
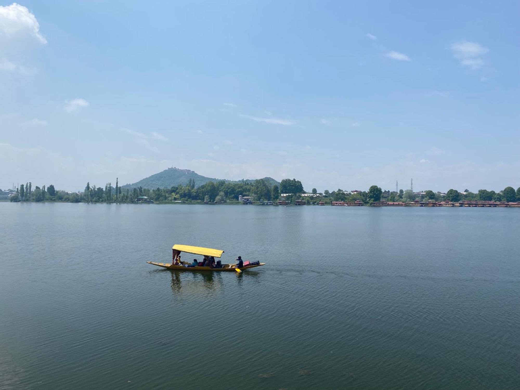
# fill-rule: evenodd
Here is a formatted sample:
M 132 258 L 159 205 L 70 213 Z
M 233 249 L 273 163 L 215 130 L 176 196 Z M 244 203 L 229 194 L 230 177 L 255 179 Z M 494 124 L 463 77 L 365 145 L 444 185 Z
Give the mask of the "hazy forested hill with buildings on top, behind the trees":
M 137 183 L 134 184 L 125 184 L 121 188 L 135 188 L 135 187 L 142 187 L 142 188 L 149 188 L 149 189 L 155 189 L 155 188 L 171 188 L 173 186 L 178 186 L 179 184 L 182 184 L 183 186 L 186 186 L 190 179 L 195 182 L 195 187 L 199 187 L 205 183 L 208 183 L 209 181 L 227 181 L 230 183 L 238 183 L 238 181 L 231 181 L 226 179 L 215 179 L 212 177 L 205 177 L 202 175 L 199 175 L 198 173 L 195 173 L 190 170 L 181 170 L 179 168 L 168 168 L 162 172 L 156 173 L 154 175 L 151 175 L 149 177 L 146 177 L 144 179 L 141 179 L 137 181 Z M 274 186 L 275 184 L 280 186 L 280 183 L 276 181 L 275 179 L 271 177 L 264 177 L 263 178 L 269 186 Z M 245 183 L 251 183 L 252 181 L 255 181 L 255 179 L 244 179 Z

